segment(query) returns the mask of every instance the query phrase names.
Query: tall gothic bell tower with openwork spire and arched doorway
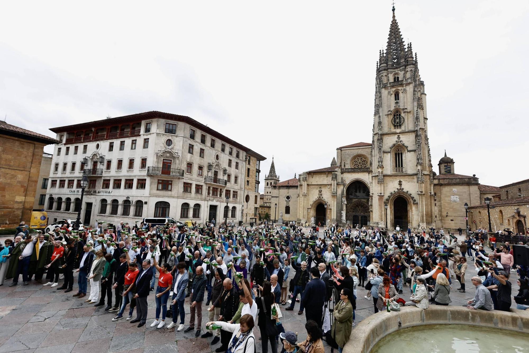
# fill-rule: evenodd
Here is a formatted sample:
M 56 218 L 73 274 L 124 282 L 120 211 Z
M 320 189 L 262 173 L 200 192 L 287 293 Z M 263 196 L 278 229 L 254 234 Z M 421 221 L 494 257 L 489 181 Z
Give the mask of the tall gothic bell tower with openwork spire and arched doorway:
M 420 229 L 434 223 L 433 172 L 426 93 L 412 43 L 405 46 L 395 18 L 375 78 L 371 144 L 371 224 Z M 386 207 L 387 206 L 387 207 Z M 386 221 L 387 219 L 387 221 Z

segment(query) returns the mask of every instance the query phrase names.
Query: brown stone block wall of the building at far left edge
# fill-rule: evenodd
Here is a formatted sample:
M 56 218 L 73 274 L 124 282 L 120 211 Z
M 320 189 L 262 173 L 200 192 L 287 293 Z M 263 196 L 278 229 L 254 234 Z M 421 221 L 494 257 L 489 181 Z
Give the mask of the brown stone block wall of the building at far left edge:
M 0 226 L 29 224 L 37 191 L 43 144 L 0 136 Z

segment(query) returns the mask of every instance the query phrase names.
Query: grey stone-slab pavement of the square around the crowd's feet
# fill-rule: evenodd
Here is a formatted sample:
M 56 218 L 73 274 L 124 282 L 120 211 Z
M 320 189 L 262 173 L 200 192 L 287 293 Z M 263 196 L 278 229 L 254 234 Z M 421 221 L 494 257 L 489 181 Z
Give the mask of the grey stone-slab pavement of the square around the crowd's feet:
M 470 268 L 466 276 L 467 293 L 459 293 L 459 283 L 452 279 L 450 305 L 463 305 L 473 298 L 475 289 L 470 278 L 475 275 Z M 291 273 L 294 273 L 292 270 Z M 513 283 L 513 295 L 518 293 L 516 279 L 518 276 L 511 272 L 510 281 Z M 22 284 L 22 281 L 19 281 Z M 60 280 L 60 284 L 62 280 Z M 77 280 L 74 290 L 63 293 L 49 286 L 42 286 L 31 281 L 28 286 L 8 287 L 8 280 L 0 286 L 0 353 L 4 352 L 212 352 L 220 347 L 220 343 L 212 346 L 212 338 L 195 338 L 195 331 L 184 333 L 177 332 L 175 328 L 151 328 L 150 324 L 155 314 L 156 304 L 154 293 L 149 296 L 149 315 L 147 324 L 138 328 L 125 319 L 112 321 L 115 313 L 104 311 L 105 306 L 94 307 L 84 303 L 83 299 L 72 297 L 77 293 Z M 372 299 L 363 298 L 367 291 L 358 288 L 357 310 L 355 322 L 358 324 L 364 317 L 372 315 Z M 409 290 L 404 288 L 401 295 L 409 299 Z M 299 304 L 296 303 L 294 311 L 282 311 L 281 320 L 285 330 L 298 333 L 299 341 L 306 338 L 305 314 L 298 315 Z M 513 307 L 516 307 L 513 300 Z M 127 309 L 128 310 L 128 309 Z M 207 320 L 206 306 L 203 305 L 202 332 L 204 333 Z M 126 312 L 126 311 L 125 311 Z M 186 302 L 186 314 L 189 314 L 189 304 Z M 378 315 L 384 315 L 384 312 Z M 135 317 L 135 313 L 133 315 Z M 167 319 L 166 322 L 170 322 Z M 189 315 L 186 315 L 186 324 Z M 186 326 L 187 327 L 187 326 Z M 259 337 L 259 328 L 254 328 L 256 337 Z M 352 338 L 354 339 L 354 331 Z M 325 345 L 329 353 L 330 347 Z M 257 340 L 257 352 L 262 352 L 261 341 Z

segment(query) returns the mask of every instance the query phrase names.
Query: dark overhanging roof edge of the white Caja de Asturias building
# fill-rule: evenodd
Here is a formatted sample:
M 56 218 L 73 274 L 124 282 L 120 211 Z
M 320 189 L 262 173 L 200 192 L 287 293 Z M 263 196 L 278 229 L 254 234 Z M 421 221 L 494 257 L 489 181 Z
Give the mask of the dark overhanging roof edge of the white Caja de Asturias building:
M 243 146 L 243 145 L 241 145 L 238 142 L 235 142 L 231 138 L 228 138 L 228 137 L 222 135 L 221 133 L 218 133 L 218 131 L 213 130 L 210 127 L 207 127 L 206 125 L 196 121 L 195 119 L 186 117 L 184 115 L 165 113 L 165 112 L 156 111 L 156 110 L 148 111 L 148 112 L 144 112 L 144 113 L 126 115 L 126 116 L 117 117 L 117 118 L 101 119 L 101 120 L 95 120 L 95 121 L 89 121 L 89 122 L 81 122 L 79 124 L 66 125 L 66 126 L 60 126 L 60 127 L 56 127 L 56 128 L 51 128 L 50 130 L 53 131 L 54 133 L 67 133 L 67 132 L 75 131 L 75 130 L 92 129 L 92 128 L 96 128 L 96 127 L 104 127 L 104 126 L 109 126 L 109 125 L 117 125 L 117 124 L 120 124 L 120 123 L 130 123 L 130 122 L 137 122 L 137 121 L 141 121 L 141 120 L 156 119 L 156 118 L 163 118 L 163 119 L 167 119 L 167 120 L 186 122 L 189 125 L 193 125 L 196 128 L 204 131 L 205 133 L 207 133 L 209 135 L 215 136 L 218 139 L 221 139 L 221 140 L 225 141 L 226 143 L 228 143 L 230 145 L 233 145 L 235 147 L 238 147 L 238 148 L 242 149 L 244 152 L 249 152 L 250 151 L 252 153 L 252 155 L 257 157 L 257 158 L 259 158 L 260 161 L 266 160 L 266 158 L 264 156 L 258 154 L 257 152 L 252 151 L 250 148 L 248 148 L 246 146 Z

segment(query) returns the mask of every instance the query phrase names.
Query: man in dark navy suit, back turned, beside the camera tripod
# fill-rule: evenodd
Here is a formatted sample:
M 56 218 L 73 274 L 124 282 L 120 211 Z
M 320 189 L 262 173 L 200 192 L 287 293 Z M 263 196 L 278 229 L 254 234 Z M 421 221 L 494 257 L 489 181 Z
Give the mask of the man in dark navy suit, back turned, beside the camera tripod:
M 325 303 L 326 287 L 320 279 L 320 270 L 317 267 L 311 268 L 312 279 L 307 283 L 303 292 L 303 306 L 305 307 L 305 317 L 314 320 L 318 327 L 322 327 L 323 304 Z

